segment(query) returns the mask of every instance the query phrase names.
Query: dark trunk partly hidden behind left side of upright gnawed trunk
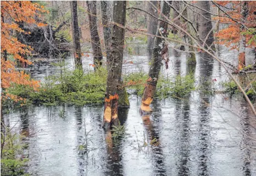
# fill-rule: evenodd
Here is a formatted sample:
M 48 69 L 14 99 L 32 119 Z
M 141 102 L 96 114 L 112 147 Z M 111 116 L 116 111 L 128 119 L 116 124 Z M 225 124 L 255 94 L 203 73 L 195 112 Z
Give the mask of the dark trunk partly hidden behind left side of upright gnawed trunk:
M 101 1 L 101 12 L 102 12 L 102 24 L 103 24 L 103 33 L 104 33 L 104 43 L 105 50 L 107 54 L 107 64 L 109 63 L 109 51 L 110 51 L 110 42 L 111 42 L 111 21 L 112 21 L 112 3 L 111 1 Z

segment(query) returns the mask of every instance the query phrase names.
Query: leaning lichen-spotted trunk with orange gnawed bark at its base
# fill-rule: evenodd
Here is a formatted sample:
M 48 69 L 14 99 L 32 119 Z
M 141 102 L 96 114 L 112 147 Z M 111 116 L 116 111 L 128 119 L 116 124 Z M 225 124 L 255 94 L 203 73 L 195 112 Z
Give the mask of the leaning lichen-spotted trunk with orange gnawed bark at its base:
M 164 2 L 162 8 L 162 14 L 169 18 L 170 16 L 170 7 L 168 3 Z M 160 31 L 161 30 L 161 31 Z M 156 36 L 168 36 L 168 25 L 165 22 L 160 22 L 158 25 L 158 30 Z M 168 68 L 168 45 L 163 38 L 155 37 L 154 40 L 154 49 L 153 49 L 153 58 L 152 58 L 152 65 L 149 68 L 149 78 L 147 80 L 147 86 L 144 88 L 143 96 L 142 96 L 142 103 L 140 111 L 144 112 L 151 112 L 151 108 L 149 105 L 151 104 L 155 92 L 155 88 L 157 86 L 158 76 L 160 72 L 160 68 L 162 65 L 162 59 L 165 60 L 166 69 Z

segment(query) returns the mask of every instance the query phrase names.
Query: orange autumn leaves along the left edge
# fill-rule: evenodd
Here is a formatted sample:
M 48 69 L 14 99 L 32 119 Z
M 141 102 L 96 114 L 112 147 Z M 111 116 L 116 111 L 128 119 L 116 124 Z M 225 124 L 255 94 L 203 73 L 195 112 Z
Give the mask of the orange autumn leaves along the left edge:
M 19 27 L 19 23 L 34 24 L 44 26 L 37 23 L 35 16 L 40 17 L 38 12 L 44 13 L 37 3 L 30 1 L 1 1 L 1 87 L 9 88 L 11 84 L 22 84 L 31 86 L 34 89 L 39 87 L 38 81 L 31 80 L 30 76 L 24 71 L 15 70 L 16 63 L 31 64 L 23 56 L 30 55 L 32 48 L 18 41 L 16 33 L 25 33 Z M 26 32 L 30 34 L 30 32 Z M 7 59 L 7 55 L 12 56 L 13 60 Z M 2 98 L 2 96 L 1 96 Z M 22 100 L 15 95 L 8 94 L 3 98 L 10 98 L 15 101 Z

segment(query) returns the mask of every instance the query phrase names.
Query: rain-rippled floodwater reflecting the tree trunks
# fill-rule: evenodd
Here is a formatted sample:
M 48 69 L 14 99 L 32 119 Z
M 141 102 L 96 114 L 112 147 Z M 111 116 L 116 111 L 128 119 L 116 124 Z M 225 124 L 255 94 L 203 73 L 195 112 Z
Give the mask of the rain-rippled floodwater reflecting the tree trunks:
M 124 64 L 124 72 L 147 71 L 145 47 L 134 48 L 136 55 L 125 56 L 133 64 Z M 230 61 L 236 55 L 220 52 Z M 197 78 L 227 79 L 218 63 L 199 56 Z M 185 54 L 171 51 L 170 59 L 163 75 L 188 72 Z M 54 67 L 47 68 L 54 73 Z M 46 75 L 40 69 L 32 73 L 38 80 Z M 130 109 L 119 111 L 125 134 L 116 141 L 101 128 L 103 106 L 30 106 L 4 115 L 4 121 L 25 133 L 32 175 L 256 175 L 256 118 L 241 95 L 199 91 L 188 99 L 154 100 L 150 116 L 140 115 L 140 103 L 131 96 Z M 59 117 L 60 110 L 65 117 Z M 88 150 L 82 152 L 78 148 L 86 140 Z

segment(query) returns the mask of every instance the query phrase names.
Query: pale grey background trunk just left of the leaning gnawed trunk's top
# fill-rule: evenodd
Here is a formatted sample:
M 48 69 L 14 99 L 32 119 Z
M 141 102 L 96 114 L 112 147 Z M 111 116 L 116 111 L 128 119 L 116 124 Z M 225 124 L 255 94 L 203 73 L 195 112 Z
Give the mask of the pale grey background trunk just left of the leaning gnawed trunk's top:
M 158 7 L 157 1 L 148 1 L 147 4 L 148 4 L 147 5 L 148 13 L 157 17 L 158 16 L 157 9 L 154 8 L 154 6 Z M 157 19 L 153 18 L 151 15 L 147 16 L 147 31 L 148 31 L 148 33 L 155 35 L 155 33 L 157 33 L 157 24 L 158 24 Z M 147 39 L 148 39 L 148 41 L 147 41 L 148 60 L 150 61 L 152 59 L 155 37 L 147 36 Z

